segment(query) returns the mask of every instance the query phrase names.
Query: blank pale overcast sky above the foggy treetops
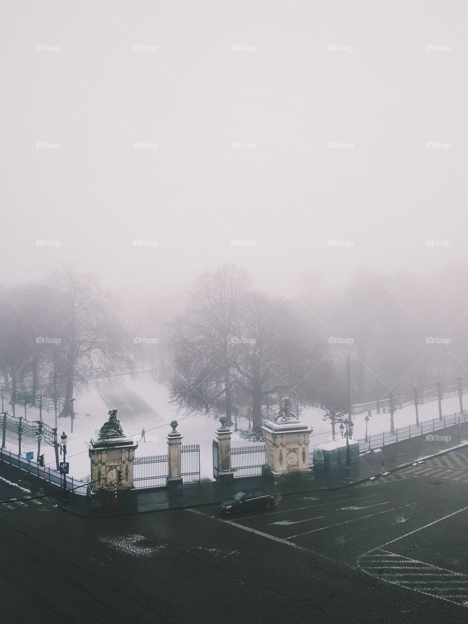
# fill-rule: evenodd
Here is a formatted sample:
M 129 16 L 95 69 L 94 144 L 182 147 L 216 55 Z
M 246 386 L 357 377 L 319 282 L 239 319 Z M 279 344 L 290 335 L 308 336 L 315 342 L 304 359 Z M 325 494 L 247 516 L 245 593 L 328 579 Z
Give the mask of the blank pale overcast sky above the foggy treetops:
M 140 300 L 228 260 L 275 293 L 466 266 L 467 2 L 2 0 L 0 22 L 2 283 L 72 260 Z

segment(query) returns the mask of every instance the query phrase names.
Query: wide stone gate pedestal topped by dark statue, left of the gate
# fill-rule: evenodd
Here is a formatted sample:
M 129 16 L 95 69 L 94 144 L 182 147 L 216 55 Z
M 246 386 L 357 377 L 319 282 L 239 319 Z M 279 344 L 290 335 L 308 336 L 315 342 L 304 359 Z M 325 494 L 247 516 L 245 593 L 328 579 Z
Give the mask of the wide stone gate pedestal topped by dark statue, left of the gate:
M 117 507 L 115 498 L 118 494 L 119 508 L 135 498 L 134 459 L 138 447 L 132 439 L 125 437 L 117 409 L 109 411 L 109 420 L 99 430 L 97 440 L 91 438 L 89 444 L 90 490 L 93 507 Z M 99 499 L 99 500 L 98 500 Z

